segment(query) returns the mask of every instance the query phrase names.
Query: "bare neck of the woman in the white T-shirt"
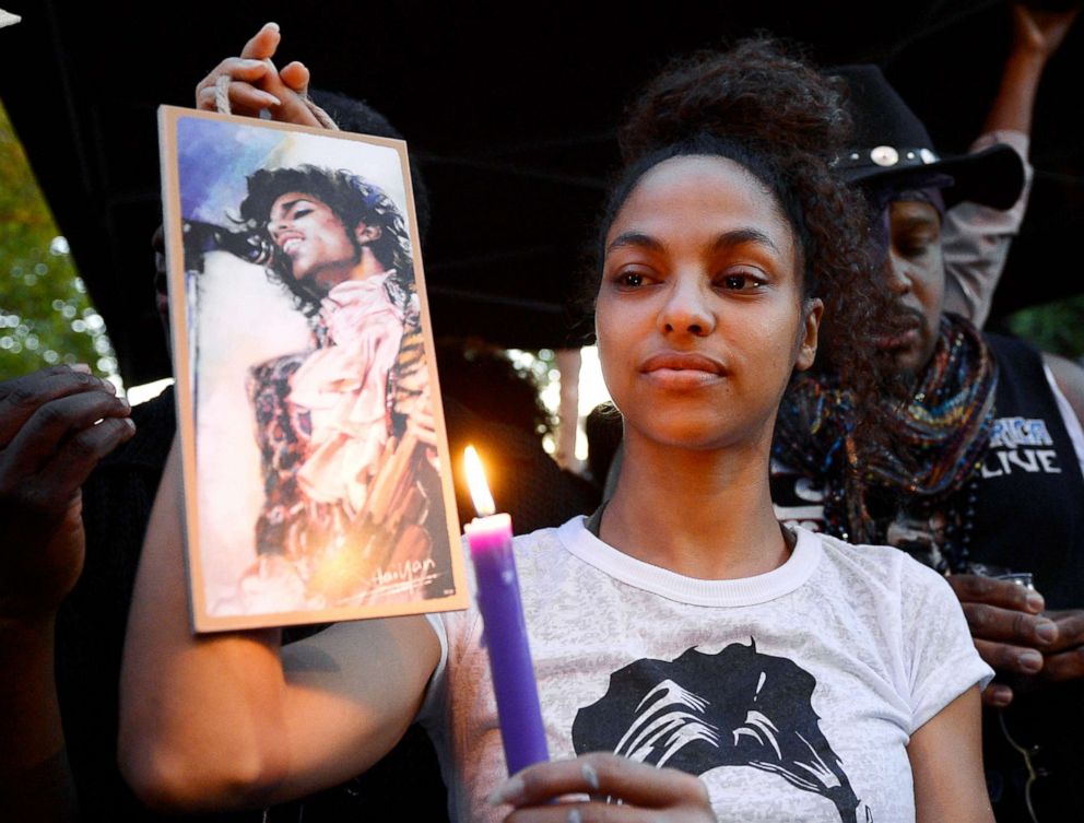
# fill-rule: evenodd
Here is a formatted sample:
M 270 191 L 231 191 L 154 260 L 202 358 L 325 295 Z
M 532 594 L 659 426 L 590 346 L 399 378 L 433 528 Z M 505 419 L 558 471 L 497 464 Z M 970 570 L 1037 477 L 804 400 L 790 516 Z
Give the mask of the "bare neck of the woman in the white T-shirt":
M 768 447 L 702 451 L 626 436 L 600 537 L 687 577 L 733 579 L 777 568 L 791 545 L 771 507 Z

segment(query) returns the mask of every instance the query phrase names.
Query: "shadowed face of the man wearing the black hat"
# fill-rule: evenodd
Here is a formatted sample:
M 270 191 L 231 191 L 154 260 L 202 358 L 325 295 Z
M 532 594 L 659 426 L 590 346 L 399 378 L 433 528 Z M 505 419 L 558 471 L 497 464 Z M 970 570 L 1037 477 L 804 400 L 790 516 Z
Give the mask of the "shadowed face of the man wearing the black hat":
M 897 200 L 888 207 L 888 287 L 904 331 L 881 341 L 902 372 L 920 373 L 938 343 L 944 303 L 941 215 L 928 202 Z

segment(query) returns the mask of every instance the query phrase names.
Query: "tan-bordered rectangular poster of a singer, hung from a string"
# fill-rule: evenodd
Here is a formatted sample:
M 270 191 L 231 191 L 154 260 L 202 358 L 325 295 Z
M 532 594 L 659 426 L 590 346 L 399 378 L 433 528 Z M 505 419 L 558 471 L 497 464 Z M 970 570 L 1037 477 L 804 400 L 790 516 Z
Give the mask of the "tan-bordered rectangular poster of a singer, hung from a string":
M 464 608 L 405 144 L 160 134 L 196 630 Z

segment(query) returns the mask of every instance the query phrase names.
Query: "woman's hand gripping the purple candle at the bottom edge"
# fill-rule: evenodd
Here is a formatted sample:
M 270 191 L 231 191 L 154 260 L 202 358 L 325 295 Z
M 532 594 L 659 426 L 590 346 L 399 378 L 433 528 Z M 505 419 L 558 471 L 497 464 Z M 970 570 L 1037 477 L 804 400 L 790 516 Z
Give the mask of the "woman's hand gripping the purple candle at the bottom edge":
M 707 788 L 696 777 L 603 752 L 529 766 L 505 780 L 490 802 L 514 807 L 506 823 L 716 820 Z

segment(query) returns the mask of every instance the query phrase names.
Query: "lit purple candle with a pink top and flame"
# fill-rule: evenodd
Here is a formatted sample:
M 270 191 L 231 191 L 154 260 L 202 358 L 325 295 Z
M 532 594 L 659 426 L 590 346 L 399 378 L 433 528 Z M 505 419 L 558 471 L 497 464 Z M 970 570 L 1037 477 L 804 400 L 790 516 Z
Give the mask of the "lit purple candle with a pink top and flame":
M 467 447 L 467 479 L 479 517 L 467 525 L 467 542 L 474 561 L 478 606 L 485 626 L 490 673 L 497 698 L 500 736 L 508 774 L 550 760 L 539 690 L 534 682 L 527 624 L 519 599 L 519 580 L 511 549 L 511 518 L 495 515 L 482 461 Z

